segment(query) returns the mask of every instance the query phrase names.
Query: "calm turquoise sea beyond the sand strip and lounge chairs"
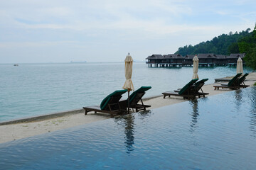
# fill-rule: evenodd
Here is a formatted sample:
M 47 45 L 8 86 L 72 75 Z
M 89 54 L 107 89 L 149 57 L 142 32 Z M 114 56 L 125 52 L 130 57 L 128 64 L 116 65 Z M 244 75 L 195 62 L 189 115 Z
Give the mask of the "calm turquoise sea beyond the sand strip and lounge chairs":
M 209 79 L 207 84 L 234 74 L 235 67 L 198 69 L 199 78 Z M 193 67 L 149 68 L 135 62 L 132 81 L 135 89 L 152 86 L 149 97 L 180 88 L 192 75 Z M 0 122 L 97 105 L 122 89 L 124 81 L 124 63 L 0 64 Z

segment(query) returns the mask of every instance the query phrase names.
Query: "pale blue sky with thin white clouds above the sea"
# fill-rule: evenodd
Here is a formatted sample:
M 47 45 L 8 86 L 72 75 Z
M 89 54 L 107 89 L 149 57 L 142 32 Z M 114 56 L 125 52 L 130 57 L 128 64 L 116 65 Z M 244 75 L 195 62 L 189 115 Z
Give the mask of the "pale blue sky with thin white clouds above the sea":
M 0 0 L 0 63 L 123 62 L 253 30 L 255 0 Z

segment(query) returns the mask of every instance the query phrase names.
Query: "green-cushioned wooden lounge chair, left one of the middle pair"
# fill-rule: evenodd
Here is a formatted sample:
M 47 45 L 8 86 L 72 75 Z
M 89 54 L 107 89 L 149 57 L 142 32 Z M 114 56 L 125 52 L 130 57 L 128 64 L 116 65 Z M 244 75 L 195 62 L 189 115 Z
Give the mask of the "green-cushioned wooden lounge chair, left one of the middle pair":
M 166 96 L 183 96 L 183 98 L 195 98 L 196 95 L 193 93 L 193 84 L 196 83 L 196 81 L 198 81 L 198 79 L 192 79 L 191 81 L 188 82 L 188 84 L 186 84 L 185 86 L 183 86 L 183 88 L 179 91 L 166 91 L 164 93 L 162 93 L 164 95 L 164 98 Z

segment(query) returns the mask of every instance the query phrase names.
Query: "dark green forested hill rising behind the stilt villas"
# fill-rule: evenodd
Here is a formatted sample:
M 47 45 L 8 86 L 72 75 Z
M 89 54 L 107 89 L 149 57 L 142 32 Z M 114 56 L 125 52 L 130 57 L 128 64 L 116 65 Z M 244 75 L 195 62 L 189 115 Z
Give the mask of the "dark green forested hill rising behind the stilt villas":
M 223 34 L 201 42 L 198 45 L 179 47 L 175 52 L 180 55 L 196 55 L 199 53 L 213 53 L 217 55 L 230 55 L 230 53 L 245 53 L 245 62 L 256 69 L 256 24 L 254 30 L 250 28 L 242 32 Z

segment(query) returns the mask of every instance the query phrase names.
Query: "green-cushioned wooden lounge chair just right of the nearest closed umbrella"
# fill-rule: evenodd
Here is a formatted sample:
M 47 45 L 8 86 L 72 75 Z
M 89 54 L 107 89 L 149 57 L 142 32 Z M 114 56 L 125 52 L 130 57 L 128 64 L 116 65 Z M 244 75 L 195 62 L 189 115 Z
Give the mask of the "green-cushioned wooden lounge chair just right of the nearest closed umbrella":
M 144 94 L 146 94 L 146 91 L 151 89 L 151 86 L 142 86 L 136 91 L 134 91 L 130 96 L 129 96 L 129 108 L 133 108 L 136 110 L 136 112 L 144 110 L 146 111 L 146 108 L 149 108 L 151 106 L 149 105 L 144 105 L 142 101 L 142 97 Z M 142 104 L 139 104 L 139 101 L 141 101 Z M 122 109 L 128 108 L 128 98 L 125 101 L 120 102 L 120 106 Z

